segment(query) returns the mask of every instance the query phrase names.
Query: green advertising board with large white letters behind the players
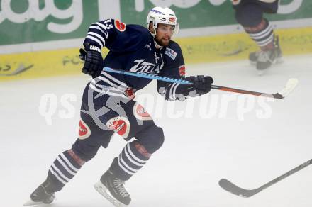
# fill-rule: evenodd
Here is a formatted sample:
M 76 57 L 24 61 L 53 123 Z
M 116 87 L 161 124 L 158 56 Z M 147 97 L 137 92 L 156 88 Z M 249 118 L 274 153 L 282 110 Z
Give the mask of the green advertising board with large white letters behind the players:
M 311 26 L 311 0 L 281 0 L 279 4 L 279 14 L 268 16 L 270 20 L 296 21 L 288 22 L 289 27 Z M 200 28 L 222 26 L 222 32 L 230 33 L 237 26 L 229 0 L 0 0 L 0 48 L 84 38 L 89 25 L 106 14 L 112 14 L 107 18 L 144 26 L 149 9 L 155 5 L 169 6 L 177 13 L 182 34 L 195 29 L 191 30 L 194 35 L 209 35 L 209 30 L 203 33 Z

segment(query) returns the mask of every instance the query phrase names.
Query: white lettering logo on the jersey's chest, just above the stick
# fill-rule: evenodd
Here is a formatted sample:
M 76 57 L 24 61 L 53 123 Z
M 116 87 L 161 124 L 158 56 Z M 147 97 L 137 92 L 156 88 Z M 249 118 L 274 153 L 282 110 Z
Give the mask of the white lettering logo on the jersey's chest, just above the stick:
M 150 62 L 146 62 L 144 59 L 135 60 L 136 64 L 131 67 L 130 72 L 144 72 L 147 74 L 159 74 L 162 67 L 164 67 L 164 64 L 162 65 L 156 65 Z

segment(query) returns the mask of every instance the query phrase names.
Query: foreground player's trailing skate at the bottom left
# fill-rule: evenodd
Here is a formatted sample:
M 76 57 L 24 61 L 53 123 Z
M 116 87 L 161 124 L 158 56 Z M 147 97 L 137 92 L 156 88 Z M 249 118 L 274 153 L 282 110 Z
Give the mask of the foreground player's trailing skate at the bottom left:
M 48 190 L 49 183 L 44 181 L 40 184 L 32 194 L 30 194 L 30 200 L 23 204 L 23 206 L 33 206 L 39 204 L 50 204 L 55 198 L 54 192 Z

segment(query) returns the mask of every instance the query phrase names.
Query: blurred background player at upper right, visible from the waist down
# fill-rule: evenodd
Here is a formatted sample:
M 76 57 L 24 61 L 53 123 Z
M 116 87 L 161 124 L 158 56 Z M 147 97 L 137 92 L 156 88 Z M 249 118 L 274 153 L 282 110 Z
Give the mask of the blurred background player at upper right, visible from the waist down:
M 260 47 L 259 52 L 251 52 L 250 62 L 262 74 L 272 64 L 282 62 L 282 51 L 279 37 L 263 13 L 277 13 L 278 0 L 232 0 L 235 18 L 243 26 L 245 32 Z

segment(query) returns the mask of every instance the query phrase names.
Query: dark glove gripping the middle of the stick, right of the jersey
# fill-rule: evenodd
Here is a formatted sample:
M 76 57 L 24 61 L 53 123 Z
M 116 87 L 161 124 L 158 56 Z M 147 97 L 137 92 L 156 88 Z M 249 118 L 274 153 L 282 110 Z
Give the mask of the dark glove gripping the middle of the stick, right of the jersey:
M 186 81 L 193 82 L 192 88 L 195 89 L 196 94 L 204 95 L 211 90 L 211 84 L 213 83 L 213 78 L 210 76 L 198 75 L 190 76 L 185 78 Z

